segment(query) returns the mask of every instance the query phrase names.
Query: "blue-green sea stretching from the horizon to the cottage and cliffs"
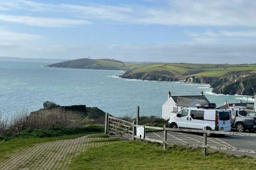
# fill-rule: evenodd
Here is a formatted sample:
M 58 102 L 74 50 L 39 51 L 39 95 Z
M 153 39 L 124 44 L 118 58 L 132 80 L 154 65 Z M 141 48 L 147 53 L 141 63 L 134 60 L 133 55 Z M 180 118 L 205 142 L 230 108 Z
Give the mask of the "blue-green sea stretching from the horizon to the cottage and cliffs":
M 122 79 L 123 71 L 44 67 L 54 61 L 0 59 L 0 115 L 36 111 L 45 101 L 58 105 L 98 107 L 113 116 L 161 116 L 168 91 L 172 95 L 199 95 L 217 106 L 253 102 L 251 97 L 213 94 L 209 84 Z

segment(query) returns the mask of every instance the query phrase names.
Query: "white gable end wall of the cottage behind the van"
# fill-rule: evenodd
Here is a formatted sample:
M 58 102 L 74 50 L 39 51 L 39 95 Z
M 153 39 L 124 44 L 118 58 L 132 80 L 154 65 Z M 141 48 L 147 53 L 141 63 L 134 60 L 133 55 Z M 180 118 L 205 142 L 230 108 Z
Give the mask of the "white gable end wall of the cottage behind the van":
M 164 104 L 162 105 L 162 118 L 163 119 L 170 119 L 176 113 L 172 113 L 174 108 L 177 108 L 175 101 L 170 97 Z M 180 111 L 180 107 L 178 108 Z

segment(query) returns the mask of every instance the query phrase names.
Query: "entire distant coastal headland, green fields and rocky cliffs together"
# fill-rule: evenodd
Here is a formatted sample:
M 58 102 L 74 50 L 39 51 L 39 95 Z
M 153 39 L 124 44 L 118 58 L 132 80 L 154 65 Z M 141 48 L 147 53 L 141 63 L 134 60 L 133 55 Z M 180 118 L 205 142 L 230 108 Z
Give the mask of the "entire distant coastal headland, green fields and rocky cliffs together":
M 208 83 L 217 94 L 256 93 L 256 64 L 142 63 L 115 59 L 75 59 L 47 66 L 125 70 L 120 77 L 126 79 Z M 247 82 L 249 84 L 244 85 Z

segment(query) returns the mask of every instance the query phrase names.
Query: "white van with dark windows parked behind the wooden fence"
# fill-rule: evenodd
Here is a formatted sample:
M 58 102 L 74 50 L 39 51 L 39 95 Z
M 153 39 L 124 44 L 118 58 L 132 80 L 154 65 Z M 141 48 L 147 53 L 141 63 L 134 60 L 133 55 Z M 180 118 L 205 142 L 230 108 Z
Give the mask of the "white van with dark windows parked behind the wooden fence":
M 219 109 L 183 108 L 168 122 L 171 128 L 230 131 L 230 111 Z M 211 133 L 207 136 L 212 136 Z

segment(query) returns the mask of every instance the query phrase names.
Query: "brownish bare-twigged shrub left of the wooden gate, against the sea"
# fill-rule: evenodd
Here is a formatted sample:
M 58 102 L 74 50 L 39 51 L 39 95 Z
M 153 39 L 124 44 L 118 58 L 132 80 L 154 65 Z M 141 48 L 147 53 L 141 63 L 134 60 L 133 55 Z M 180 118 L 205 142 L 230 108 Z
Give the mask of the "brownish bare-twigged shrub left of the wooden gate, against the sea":
M 63 108 L 42 109 L 30 114 L 23 110 L 12 116 L 10 122 L 0 119 L 0 133 L 19 133 L 26 129 L 47 129 L 50 127 L 80 127 L 81 116 Z

